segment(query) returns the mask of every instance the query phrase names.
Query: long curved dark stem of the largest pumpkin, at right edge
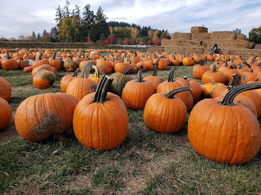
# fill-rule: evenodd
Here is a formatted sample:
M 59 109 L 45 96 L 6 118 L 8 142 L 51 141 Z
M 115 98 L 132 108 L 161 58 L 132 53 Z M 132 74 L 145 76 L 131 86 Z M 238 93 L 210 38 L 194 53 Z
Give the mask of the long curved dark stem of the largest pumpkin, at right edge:
M 227 94 L 224 96 L 223 100 L 220 103 L 226 106 L 233 106 L 233 100 L 239 93 L 259 88 L 261 88 L 261 83 L 249 83 L 236 86 L 227 92 Z

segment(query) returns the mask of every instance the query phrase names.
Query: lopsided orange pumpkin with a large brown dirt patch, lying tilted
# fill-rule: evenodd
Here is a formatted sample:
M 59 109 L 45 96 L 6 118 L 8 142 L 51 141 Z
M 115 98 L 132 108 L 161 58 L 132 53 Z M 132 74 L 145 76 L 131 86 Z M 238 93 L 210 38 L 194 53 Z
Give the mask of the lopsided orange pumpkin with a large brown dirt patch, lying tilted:
M 61 133 L 72 127 L 74 96 L 66 93 L 46 93 L 25 99 L 15 113 L 15 126 L 25 140 L 39 142 L 51 134 Z

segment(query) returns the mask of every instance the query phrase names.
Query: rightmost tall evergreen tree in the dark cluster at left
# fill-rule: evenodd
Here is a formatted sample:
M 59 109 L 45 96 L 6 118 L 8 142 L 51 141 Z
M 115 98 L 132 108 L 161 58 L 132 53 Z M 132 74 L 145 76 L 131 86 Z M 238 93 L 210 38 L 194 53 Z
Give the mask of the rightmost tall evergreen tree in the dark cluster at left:
M 102 32 L 106 37 L 110 34 L 110 29 L 106 19 L 106 15 L 103 14 L 103 10 L 99 6 L 91 26 L 91 38 L 94 42 L 100 38 Z

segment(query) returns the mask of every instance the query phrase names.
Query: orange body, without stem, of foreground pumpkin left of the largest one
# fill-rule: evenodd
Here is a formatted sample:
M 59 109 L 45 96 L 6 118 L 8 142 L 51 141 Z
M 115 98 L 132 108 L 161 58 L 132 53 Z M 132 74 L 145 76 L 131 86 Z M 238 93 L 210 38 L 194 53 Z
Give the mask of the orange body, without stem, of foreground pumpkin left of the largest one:
M 172 134 L 180 131 L 187 117 L 187 107 L 177 96 L 168 99 L 166 93 L 155 93 L 144 109 L 145 124 L 153 131 Z

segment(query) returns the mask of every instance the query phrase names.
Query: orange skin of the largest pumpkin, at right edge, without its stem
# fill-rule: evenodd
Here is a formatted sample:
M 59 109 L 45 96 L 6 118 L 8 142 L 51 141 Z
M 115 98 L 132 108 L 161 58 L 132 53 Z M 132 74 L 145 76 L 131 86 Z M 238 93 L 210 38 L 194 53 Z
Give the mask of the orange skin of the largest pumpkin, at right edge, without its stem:
M 230 165 L 252 159 L 261 141 L 259 122 L 249 109 L 220 105 L 213 99 L 202 100 L 192 109 L 188 137 L 200 155 Z

